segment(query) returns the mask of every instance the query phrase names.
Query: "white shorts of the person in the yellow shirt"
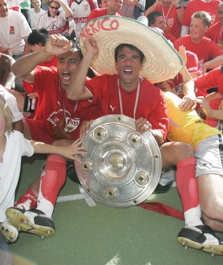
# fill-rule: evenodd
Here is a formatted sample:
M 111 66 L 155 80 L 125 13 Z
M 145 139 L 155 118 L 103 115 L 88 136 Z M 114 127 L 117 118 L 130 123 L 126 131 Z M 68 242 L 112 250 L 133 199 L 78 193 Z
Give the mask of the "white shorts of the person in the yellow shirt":
M 213 135 L 204 139 L 195 150 L 196 177 L 203 174 L 223 176 L 223 137 Z

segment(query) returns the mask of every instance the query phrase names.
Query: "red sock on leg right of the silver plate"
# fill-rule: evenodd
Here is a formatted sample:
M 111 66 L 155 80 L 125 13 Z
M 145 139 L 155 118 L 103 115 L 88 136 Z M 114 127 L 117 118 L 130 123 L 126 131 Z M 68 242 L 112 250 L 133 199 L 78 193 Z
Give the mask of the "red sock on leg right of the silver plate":
M 183 204 L 183 211 L 199 205 L 199 190 L 195 178 L 195 158 L 185 158 L 176 165 L 176 185 Z

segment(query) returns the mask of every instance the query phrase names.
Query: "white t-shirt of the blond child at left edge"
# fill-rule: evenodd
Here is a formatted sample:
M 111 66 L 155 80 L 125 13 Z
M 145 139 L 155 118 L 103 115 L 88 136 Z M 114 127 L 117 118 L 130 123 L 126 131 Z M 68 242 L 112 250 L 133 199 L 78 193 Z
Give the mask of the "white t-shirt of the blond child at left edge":
M 6 209 L 14 206 L 22 156 L 32 156 L 34 153 L 33 146 L 21 132 L 15 130 L 10 135 L 5 135 L 6 150 L 3 153 L 3 163 L 0 162 L 0 222 L 6 219 Z

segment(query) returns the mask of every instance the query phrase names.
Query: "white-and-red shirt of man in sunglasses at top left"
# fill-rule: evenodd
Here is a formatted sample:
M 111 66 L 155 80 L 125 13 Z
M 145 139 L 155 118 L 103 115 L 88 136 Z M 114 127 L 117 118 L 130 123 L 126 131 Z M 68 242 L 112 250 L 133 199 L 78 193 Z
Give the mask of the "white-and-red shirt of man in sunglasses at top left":
M 60 9 L 59 12 L 56 17 L 49 17 L 48 12 L 41 15 L 36 23 L 36 29 L 44 28 L 50 35 L 61 34 L 62 36 L 68 36 L 69 22 L 65 17 L 66 13 L 63 9 Z M 71 19 L 72 17 L 69 20 Z

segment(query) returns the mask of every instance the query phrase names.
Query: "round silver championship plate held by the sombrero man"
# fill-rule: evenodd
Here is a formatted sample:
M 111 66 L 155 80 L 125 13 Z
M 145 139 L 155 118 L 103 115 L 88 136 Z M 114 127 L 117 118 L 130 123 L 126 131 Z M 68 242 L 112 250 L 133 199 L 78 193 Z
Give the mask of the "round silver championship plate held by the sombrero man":
M 155 190 L 162 169 L 159 146 L 151 132 L 135 132 L 134 119 L 107 115 L 95 119 L 75 169 L 84 190 L 95 201 L 124 208 L 137 205 Z

